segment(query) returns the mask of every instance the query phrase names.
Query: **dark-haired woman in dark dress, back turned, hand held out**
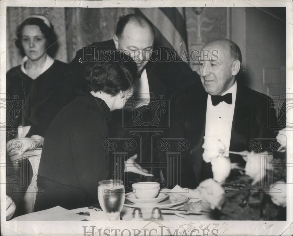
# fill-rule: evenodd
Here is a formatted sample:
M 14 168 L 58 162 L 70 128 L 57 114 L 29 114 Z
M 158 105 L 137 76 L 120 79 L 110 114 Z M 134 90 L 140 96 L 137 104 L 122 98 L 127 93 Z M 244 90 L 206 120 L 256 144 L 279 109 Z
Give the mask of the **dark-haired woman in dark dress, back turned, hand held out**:
M 123 108 L 123 101 L 133 94 L 137 77 L 135 62 L 115 53 L 117 60 L 88 65 L 88 93 L 80 91 L 52 120 L 37 178 L 43 193 L 37 194 L 34 211 L 92 206 L 98 202 L 98 182 L 112 175 L 109 152 L 104 147 L 111 130 L 111 111 Z M 127 159 L 125 171 L 151 176 L 134 162 L 136 158 Z M 124 167 L 119 168 L 123 173 Z

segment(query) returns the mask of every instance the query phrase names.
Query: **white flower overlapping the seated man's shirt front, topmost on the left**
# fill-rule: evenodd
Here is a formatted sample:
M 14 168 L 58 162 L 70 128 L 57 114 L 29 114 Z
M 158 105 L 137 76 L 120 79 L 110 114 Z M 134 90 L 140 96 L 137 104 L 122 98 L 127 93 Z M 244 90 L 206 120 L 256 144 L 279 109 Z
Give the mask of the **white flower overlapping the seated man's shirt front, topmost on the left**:
M 219 155 L 225 152 L 225 145 L 217 136 L 205 136 L 205 142 L 202 145 L 204 152 L 202 158 L 205 162 L 211 162 L 213 158 L 218 157 Z

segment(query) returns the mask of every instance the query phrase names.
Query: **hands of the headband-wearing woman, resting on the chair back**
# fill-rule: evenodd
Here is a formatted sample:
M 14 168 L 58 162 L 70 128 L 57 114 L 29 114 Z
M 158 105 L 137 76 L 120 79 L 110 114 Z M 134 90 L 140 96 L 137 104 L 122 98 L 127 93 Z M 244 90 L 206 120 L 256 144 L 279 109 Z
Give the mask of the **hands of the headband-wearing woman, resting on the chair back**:
M 39 135 L 32 137 L 15 138 L 9 140 L 6 144 L 6 153 L 8 156 L 25 152 L 26 150 L 40 149 L 43 146 L 44 138 Z

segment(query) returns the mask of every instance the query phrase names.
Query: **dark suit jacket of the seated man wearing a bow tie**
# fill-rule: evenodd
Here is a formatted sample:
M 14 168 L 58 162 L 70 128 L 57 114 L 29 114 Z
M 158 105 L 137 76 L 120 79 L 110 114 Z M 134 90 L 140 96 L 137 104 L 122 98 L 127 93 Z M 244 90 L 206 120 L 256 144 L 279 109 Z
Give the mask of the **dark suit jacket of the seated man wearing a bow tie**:
M 190 88 L 176 98 L 171 121 L 173 135 L 187 138 L 190 142 L 190 149 L 181 160 L 180 184 L 191 189 L 195 189 L 202 180 L 213 177 L 210 163 L 202 159 L 208 94 L 203 87 L 197 91 L 196 94 Z M 237 84 L 230 151 L 252 150 L 251 140 L 255 138 L 259 139 L 262 150 L 269 147 L 276 135 L 275 130 L 268 127 L 268 120 L 270 124 L 277 124 L 277 118 L 275 109 L 268 108 L 268 99 L 265 94 Z M 230 154 L 229 157 L 231 162 L 245 164 L 239 155 Z

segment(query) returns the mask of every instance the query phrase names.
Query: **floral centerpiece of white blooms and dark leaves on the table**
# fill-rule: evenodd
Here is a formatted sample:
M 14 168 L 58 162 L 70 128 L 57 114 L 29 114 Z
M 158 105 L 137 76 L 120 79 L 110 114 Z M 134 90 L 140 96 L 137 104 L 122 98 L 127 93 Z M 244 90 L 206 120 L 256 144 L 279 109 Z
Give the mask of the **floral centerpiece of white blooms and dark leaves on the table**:
M 245 168 L 230 163 L 221 140 L 205 137 L 203 159 L 211 162 L 214 178 L 202 181 L 197 190 L 209 202 L 215 219 L 286 220 L 283 137 L 277 136 L 280 146 L 275 151 L 237 153 L 246 161 Z

